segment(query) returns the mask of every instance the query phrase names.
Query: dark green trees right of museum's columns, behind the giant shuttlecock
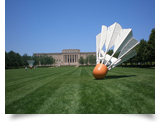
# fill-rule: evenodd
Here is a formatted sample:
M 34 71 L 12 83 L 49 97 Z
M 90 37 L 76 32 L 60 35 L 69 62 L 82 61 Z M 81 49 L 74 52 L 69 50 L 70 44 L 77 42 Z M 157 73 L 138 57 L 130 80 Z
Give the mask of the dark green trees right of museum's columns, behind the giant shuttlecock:
M 127 66 L 130 65 L 150 65 L 152 66 L 153 62 L 155 62 L 155 28 L 151 30 L 149 35 L 149 40 L 146 41 L 144 39 L 140 40 L 140 43 L 135 47 L 137 55 L 125 61 L 124 64 Z M 109 50 L 107 54 L 112 55 L 113 50 Z M 116 53 L 114 57 L 118 57 L 119 53 Z M 80 64 L 96 64 L 96 56 L 88 55 L 86 59 L 80 57 Z M 122 64 L 121 64 L 122 65 Z

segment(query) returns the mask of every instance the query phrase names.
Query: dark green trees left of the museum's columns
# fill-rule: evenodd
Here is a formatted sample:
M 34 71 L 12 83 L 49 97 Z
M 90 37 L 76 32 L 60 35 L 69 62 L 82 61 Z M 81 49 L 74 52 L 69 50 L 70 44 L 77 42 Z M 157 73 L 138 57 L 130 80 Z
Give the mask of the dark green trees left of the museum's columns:
M 55 63 L 55 59 L 51 56 L 28 56 L 26 53 L 21 56 L 19 53 L 14 51 L 5 51 L 5 68 L 19 68 L 23 66 L 28 66 L 27 60 L 35 60 L 34 65 L 51 65 Z

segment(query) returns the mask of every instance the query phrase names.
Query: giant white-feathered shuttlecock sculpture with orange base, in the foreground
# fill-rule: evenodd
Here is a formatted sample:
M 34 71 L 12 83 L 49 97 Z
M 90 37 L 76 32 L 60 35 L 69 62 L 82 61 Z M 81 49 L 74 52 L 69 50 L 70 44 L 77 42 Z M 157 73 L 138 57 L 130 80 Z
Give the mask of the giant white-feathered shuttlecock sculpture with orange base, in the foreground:
M 101 33 L 96 36 L 97 65 L 93 70 L 93 76 L 103 79 L 108 70 L 135 56 L 134 47 L 137 44 L 139 42 L 133 38 L 132 29 L 122 29 L 116 22 L 108 28 L 102 25 Z M 113 49 L 111 55 L 107 54 L 109 49 Z M 113 57 L 115 54 L 118 54 L 118 57 Z

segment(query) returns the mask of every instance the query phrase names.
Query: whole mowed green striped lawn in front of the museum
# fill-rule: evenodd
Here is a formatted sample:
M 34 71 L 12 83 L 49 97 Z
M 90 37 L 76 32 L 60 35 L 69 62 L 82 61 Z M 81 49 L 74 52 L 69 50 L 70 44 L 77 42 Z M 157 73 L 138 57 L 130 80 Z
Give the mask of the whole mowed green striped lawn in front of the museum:
M 5 70 L 6 114 L 155 114 L 155 69 L 94 67 Z

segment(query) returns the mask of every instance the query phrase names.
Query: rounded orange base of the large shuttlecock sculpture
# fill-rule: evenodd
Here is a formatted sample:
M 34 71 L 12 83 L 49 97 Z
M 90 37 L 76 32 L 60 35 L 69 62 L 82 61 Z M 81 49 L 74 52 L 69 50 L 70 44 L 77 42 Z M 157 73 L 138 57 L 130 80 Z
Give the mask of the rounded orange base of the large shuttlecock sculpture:
M 108 72 L 107 66 L 104 65 L 104 64 L 99 63 L 93 69 L 93 76 L 96 79 L 103 79 L 103 78 L 105 78 L 107 72 Z

